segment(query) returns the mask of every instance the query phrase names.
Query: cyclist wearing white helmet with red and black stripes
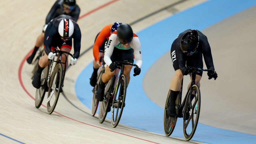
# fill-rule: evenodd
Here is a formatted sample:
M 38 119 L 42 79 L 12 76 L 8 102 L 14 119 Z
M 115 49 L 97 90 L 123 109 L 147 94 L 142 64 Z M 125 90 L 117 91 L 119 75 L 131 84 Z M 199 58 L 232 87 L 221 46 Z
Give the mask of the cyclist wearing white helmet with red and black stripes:
M 34 75 L 32 84 L 35 88 L 40 88 L 42 70 L 49 64 L 48 59 L 54 59 L 54 52 L 58 46 L 60 50 L 69 52 L 72 48 L 72 38 L 74 42 L 74 59 L 70 57 L 71 65 L 75 65 L 80 55 L 81 31 L 78 24 L 71 16 L 60 15 L 51 20 L 45 30 L 44 51 L 45 55 L 39 59 L 38 70 Z M 67 57 L 68 54 L 65 54 Z M 61 62 L 65 62 L 66 57 L 61 57 Z M 67 59 L 68 63 L 68 59 Z

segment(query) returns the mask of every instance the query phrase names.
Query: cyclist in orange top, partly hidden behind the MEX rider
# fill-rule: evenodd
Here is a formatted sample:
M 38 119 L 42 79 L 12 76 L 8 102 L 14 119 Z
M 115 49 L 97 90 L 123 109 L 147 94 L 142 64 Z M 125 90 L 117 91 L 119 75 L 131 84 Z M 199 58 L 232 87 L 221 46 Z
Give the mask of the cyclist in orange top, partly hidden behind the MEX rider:
M 100 57 L 104 56 L 104 47 L 106 41 L 109 39 L 110 35 L 117 30 L 118 26 L 121 25 L 120 22 L 115 22 L 114 24 L 106 25 L 96 36 L 93 46 L 93 73 L 90 78 L 90 85 L 95 86 L 97 83 L 97 72 L 100 64 Z M 118 71 L 119 72 L 119 71 Z

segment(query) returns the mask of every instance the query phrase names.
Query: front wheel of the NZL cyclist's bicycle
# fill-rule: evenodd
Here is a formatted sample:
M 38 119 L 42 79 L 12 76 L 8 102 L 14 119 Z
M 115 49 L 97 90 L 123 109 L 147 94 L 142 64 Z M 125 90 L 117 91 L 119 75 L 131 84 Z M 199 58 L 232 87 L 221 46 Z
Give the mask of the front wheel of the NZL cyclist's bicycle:
M 195 97 L 193 99 L 190 96 L 187 97 L 183 113 L 183 133 L 186 140 L 190 140 L 194 136 L 200 114 L 201 94 L 199 87 L 193 85 L 189 95 L 192 92 L 195 92 Z

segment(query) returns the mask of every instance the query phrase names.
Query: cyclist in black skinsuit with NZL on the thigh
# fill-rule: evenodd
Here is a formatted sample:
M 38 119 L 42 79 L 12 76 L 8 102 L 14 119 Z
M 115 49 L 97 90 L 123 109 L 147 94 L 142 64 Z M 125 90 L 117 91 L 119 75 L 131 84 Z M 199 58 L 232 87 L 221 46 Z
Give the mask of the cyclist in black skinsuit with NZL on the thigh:
M 175 76 L 170 84 L 170 105 L 167 111 L 169 116 L 175 117 L 175 101 L 181 88 L 181 82 L 184 75 L 190 72 L 186 67 L 203 68 L 202 55 L 204 55 L 207 69 L 215 70 L 211 55 L 211 48 L 207 37 L 196 29 L 187 29 L 180 33 L 174 40 L 171 47 L 172 63 L 175 70 Z M 216 79 L 217 73 L 209 71 L 207 75 L 209 79 Z M 202 71 L 196 75 L 195 83 L 200 86 Z M 189 84 L 190 85 L 190 84 Z M 193 97 L 193 96 L 192 96 Z

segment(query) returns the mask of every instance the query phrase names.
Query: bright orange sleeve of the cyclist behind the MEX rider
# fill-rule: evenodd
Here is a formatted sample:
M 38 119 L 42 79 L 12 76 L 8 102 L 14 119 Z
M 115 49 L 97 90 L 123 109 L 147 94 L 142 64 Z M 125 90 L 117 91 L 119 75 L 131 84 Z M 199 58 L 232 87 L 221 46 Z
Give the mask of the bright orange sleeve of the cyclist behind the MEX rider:
M 98 37 L 95 40 L 94 46 L 93 46 L 93 56 L 95 61 L 99 60 L 99 48 L 104 42 L 105 38 L 109 38 L 110 32 L 111 32 L 111 26 L 112 24 L 106 25 L 101 32 L 99 33 Z

